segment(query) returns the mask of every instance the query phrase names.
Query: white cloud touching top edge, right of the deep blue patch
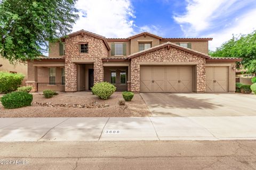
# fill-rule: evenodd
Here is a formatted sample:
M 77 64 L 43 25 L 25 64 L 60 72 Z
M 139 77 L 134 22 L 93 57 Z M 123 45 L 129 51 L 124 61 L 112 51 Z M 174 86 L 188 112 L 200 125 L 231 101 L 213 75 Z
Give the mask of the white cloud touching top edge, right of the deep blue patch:
M 174 20 L 180 24 L 185 36 L 198 36 L 201 31 L 218 27 L 217 23 L 223 22 L 225 16 L 234 14 L 250 2 L 252 0 L 187 0 L 186 13 L 175 15 Z

